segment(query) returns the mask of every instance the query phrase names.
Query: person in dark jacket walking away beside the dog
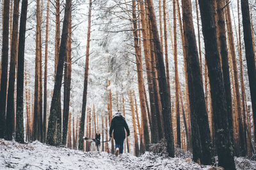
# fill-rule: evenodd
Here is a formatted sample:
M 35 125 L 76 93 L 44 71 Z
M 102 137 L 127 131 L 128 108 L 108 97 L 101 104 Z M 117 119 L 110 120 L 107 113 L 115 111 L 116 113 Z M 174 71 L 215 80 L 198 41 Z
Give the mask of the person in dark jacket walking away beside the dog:
M 120 157 L 123 156 L 123 150 L 124 150 L 124 139 L 125 139 L 124 129 L 127 131 L 127 136 L 129 136 L 130 130 L 127 125 L 127 122 L 125 121 L 125 118 L 123 117 L 123 115 L 120 113 L 120 110 L 118 110 L 111 120 L 109 136 L 110 138 L 112 138 L 112 132 L 114 130 L 114 139 L 115 139 L 115 147 L 116 147 L 115 155 L 117 156 L 118 153 L 120 152 Z

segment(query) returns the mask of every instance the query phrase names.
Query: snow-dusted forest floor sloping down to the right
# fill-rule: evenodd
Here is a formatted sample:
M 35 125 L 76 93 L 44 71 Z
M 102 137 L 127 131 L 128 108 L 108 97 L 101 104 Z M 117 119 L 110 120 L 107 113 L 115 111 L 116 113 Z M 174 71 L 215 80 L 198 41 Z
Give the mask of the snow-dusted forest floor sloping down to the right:
M 190 159 L 189 159 L 190 157 Z M 237 169 L 256 169 L 256 162 L 236 158 Z M 45 145 L 38 141 L 22 145 L 0 139 L 0 169 L 209 169 L 191 161 L 191 153 L 166 158 L 146 152 L 141 157 L 124 153 L 82 152 Z

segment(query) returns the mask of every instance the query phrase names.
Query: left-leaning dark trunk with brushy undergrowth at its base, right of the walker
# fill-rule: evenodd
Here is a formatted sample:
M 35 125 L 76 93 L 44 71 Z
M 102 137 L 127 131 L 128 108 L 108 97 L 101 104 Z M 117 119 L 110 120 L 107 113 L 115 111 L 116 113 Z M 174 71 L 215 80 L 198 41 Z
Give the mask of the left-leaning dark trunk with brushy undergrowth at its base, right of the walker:
M 159 93 L 161 96 L 162 114 L 164 120 L 164 136 L 167 143 L 167 153 L 169 157 L 174 157 L 174 141 L 172 132 L 172 111 L 170 110 L 170 96 L 168 93 L 166 72 L 164 67 L 163 52 L 161 50 L 161 44 L 159 41 L 159 34 L 157 31 L 156 15 L 152 0 L 147 0 L 148 14 L 152 22 L 152 32 L 154 35 L 154 43 L 156 46 L 156 68 L 159 75 Z

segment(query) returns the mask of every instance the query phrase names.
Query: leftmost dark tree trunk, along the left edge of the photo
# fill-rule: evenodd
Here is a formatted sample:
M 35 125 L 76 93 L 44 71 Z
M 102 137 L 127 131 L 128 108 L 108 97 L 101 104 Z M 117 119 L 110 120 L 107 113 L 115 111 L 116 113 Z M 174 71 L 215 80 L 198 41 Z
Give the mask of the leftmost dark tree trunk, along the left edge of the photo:
M 6 87 L 8 74 L 8 50 L 9 50 L 9 16 L 10 0 L 4 0 L 3 8 L 3 46 L 2 46 L 2 63 L 1 63 L 1 90 L 0 90 L 0 138 L 4 138 L 6 131 Z

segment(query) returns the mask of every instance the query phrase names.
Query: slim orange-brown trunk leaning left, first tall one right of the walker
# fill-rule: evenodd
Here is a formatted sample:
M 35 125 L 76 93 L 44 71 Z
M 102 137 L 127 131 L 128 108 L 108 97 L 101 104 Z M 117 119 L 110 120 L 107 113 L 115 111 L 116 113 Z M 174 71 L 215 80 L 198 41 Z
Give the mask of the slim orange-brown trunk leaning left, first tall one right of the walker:
M 140 96 L 140 109 L 141 109 L 141 126 L 143 127 L 143 134 L 144 134 L 144 143 L 145 149 L 148 150 L 149 144 L 149 132 L 148 132 L 148 120 L 147 120 L 147 111 L 146 111 L 146 104 L 145 104 L 145 97 L 143 92 L 144 86 L 144 79 L 143 79 L 143 70 L 142 70 L 142 59 L 140 55 L 140 47 L 138 46 L 138 31 L 137 31 L 137 20 L 136 20 L 136 2 L 132 1 L 132 24 L 133 24 L 133 34 L 134 34 L 134 46 L 136 52 L 136 66 L 137 66 L 137 75 L 138 75 L 138 89 L 139 89 L 139 96 Z

